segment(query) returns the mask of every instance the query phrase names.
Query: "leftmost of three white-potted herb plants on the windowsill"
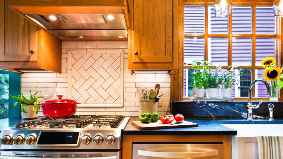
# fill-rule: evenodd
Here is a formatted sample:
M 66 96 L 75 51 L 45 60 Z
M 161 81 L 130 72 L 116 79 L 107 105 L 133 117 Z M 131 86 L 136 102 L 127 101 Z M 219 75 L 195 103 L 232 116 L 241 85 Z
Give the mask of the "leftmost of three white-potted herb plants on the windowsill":
M 193 96 L 194 98 L 204 98 L 204 94 L 205 94 L 204 88 L 206 87 L 205 75 L 210 73 L 211 71 L 211 69 L 209 68 L 209 65 L 211 66 L 213 65 L 212 65 L 212 62 L 205 61 L 205 60 L 195 60 L 193 63 L 195 62 L 196 64 L 193 65 L 192 68 L 197 66 L 197 69 L 195 69 L 195 71 L 192 72 L 193 78 L 191 80 L 192 85 L 194 86 L 194 88 L 192 89 Z

